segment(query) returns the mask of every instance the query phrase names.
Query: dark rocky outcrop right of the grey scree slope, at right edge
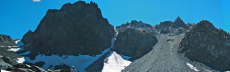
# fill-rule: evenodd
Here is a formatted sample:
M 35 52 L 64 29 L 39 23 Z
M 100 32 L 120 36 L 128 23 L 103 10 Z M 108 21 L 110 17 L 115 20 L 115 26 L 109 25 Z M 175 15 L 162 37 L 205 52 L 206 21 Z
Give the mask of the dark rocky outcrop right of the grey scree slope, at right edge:
M 191 60 L 216 70 L 230 70 L 230 35 L 207 20 L 200 21 L 185 34 L 180 49 Z

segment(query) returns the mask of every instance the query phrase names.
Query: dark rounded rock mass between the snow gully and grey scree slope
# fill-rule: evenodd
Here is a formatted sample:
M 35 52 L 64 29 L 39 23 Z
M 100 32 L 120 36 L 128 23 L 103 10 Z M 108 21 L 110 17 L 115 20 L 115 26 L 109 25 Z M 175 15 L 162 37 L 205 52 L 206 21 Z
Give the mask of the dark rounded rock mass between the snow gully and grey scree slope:
M 119 34 L 112 50 L 130 56 L 131 60 L 142 57 L 157 43 L 156 36 L 150 31 L 152 26 L 141 21 L 132 21 L 117 29 Z

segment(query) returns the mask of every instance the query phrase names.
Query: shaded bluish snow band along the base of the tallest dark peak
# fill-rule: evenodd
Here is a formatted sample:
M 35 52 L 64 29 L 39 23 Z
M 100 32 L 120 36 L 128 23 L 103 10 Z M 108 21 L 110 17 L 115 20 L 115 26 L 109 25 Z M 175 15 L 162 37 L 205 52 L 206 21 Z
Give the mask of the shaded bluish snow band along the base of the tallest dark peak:
M 44 54 L 39 54 L 35 57 L 35 60 L 31 60 L 29 57 L 25 57 L 26 62 L 29 63 L 36 63 L 43 61 L 46 64 L 42 66 L 43 69 L 48 69 L 50 65 L 56 66 L 56 65 L 62 65 L 66 64 L 68 66 L 74 66 L 78 71 L 85 72 L 85 68 L 88 67 L 90 64 L 92 64 L 94 61 L 99 59 L 102 55 L 104 55 L 106 52 L 110 51 L 110 49 L 113 47 L 114 41 L 116 38 L 112 38 L 111 40 L 111 47 L 108 49 L 105 49 L 102 54 L 98 54 L 96 56 L 89 56 L 89 55 L 79 55 L 79 56 L 73 56 L 73 55 L 63 55 L 62 57 L 58 55 L 52 54 L 51 56 L 45 56 Z M 50 68 L 54 69 L 54 67 Z

